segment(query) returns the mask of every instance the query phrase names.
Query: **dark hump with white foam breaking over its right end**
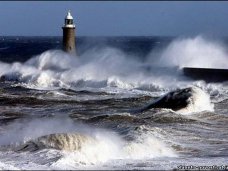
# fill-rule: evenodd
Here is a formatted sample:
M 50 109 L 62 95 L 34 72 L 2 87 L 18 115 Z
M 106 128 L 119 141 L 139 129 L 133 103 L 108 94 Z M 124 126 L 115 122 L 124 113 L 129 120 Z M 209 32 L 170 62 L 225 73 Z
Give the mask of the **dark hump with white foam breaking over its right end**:
M 188 114 L 202 111 L 213 111 L 214 105 L 210 96 L 198 87 L 189 87 L 171 91 L 133 113 L 143 112 L 151 108 L 167 108 L 178 113 Z

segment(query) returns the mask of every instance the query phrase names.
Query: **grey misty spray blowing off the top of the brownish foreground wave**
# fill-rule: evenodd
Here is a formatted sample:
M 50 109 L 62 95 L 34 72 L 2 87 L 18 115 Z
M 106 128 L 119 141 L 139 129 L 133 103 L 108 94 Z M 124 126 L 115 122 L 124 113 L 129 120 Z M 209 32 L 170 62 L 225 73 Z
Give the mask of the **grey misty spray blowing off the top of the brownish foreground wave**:
M 16 121 L 7 125 L 9 130 L 1 134 L 0 145 L 21 144 L 38 137 L 53 133 L 86 132 L 88 129 L 82 124 L 75 125 L 69 118 L 40 118 L 31 121 Z

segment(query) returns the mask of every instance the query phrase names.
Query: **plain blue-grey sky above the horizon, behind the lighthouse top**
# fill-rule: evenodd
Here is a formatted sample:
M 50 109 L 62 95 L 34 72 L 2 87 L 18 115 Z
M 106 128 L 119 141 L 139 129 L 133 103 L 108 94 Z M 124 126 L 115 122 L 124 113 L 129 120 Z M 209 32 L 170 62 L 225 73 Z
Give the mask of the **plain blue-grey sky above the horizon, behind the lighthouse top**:
M 80 36 L 228 36 L 228 2 L 0 2 L 0 35 L 61 36 L 71 10 Z

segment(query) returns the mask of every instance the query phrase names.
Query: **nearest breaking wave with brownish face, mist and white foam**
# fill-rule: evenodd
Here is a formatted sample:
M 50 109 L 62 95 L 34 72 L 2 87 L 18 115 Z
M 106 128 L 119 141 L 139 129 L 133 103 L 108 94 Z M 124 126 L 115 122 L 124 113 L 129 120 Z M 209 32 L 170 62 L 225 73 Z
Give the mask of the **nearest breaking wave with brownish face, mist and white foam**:
M 1 145 L 10 145 L 11 149 L 19 150 L 21 154 L 29 151 L 35 155 L 34 151 L 42 149 L 60 150 L 62 157 L 52 164 L 57 168 L 63 165 L 94 165 L 117 159 L 177 156 L 171 147 L 153 135 L 142 134 L 135 140 L 127 141 L 112 131 L 73 124 L 63 119 L 42 119 L 21 123 L 20 126 L 15 123 L 1 137 Z

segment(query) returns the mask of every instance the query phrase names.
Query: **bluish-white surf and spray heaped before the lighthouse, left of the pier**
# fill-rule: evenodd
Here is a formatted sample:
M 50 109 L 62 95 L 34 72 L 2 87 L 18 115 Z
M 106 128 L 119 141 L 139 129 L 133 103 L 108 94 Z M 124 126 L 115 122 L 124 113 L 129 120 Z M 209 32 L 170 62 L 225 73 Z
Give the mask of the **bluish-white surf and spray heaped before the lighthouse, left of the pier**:
M 163 87 L 175 79 L 170 72 L 161 71 L 158 75 L 144 66 L 142 62 L 113 48 L 88 52 L 79 59 L 61 51 L 46 51 L 24 64 L 13 63 L 7 66 L 9 69 L 2 73 L 1 79 L 17 81 L 23 86 L 36 89 L 77 89 L 82 86 L 140 89 Z

